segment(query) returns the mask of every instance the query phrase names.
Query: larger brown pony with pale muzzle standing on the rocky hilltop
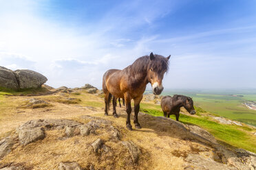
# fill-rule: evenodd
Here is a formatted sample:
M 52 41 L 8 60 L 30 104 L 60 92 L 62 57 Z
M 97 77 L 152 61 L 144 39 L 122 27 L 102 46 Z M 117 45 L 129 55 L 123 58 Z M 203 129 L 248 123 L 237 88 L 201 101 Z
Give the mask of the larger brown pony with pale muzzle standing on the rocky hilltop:
M 140 110 L 140 101 L 145 92 L 147 84 L 150 82 L 153 94 L 160 95 L 162 93 L 162 78 L 164 73 L 169 68 L 169 58 L 164 58 L 160 55 L 143 56 L 138 58 L 133 64 L 127 66 L 123 70 L 110 69 L 103 75 L 103 92 L 105 93 L 105 115 L 107 111 L 111 96 L 113 100 L 113 115 L 116 114 L 116 99 L 125 99 L 125 106 L 127 111 L 126 127 L 132 130 L 130 114 L 131 114 L 131 99 L 134 99 L 134 125 L 140 129 L 138 123 L 138 112 Z

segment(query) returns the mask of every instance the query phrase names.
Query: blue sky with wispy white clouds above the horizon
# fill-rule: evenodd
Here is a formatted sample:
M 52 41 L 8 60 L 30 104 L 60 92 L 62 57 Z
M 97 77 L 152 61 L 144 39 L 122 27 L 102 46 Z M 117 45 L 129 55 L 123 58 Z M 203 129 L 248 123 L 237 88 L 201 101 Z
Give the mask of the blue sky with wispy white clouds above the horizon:
M 0 65 L 50 86 L 101 87 L 108 69 L 169 56 L 164 88 L 255 88 L 256 1 L 0 0 Z

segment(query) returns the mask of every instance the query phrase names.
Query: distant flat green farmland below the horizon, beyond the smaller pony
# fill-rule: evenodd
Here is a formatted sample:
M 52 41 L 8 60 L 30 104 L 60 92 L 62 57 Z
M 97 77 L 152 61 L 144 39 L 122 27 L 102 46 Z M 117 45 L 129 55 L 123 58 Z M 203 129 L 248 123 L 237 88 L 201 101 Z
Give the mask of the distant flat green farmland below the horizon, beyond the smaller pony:
M 162 95 L 173 94 L 193 97 L 195 106 L 203 108 L 208 112 L 256 126 L 256 110 L 250 110 L 244 106 L 244 101 L 256 101 L 256 93 L 200 93 L 178 90 L 169 90 L 162 93 Z

